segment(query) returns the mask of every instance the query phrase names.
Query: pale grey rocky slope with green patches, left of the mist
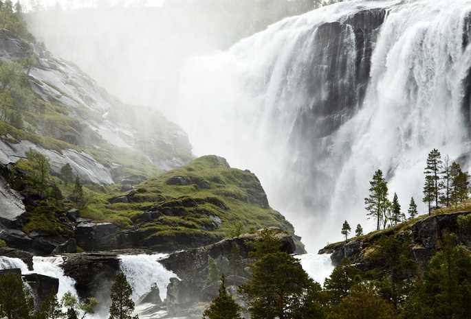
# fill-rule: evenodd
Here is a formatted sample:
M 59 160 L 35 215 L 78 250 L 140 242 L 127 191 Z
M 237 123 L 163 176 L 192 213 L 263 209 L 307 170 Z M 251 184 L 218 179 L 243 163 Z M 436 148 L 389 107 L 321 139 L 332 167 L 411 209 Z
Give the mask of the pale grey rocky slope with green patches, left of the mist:
M 126 169 L 132 166 L 120 159 L 118 150 L 133 157 L 141 154 L 140 161 L 161 171 L 193 158 L 186 133 L 157 110 L 125 105 L 74 64 L 17 38 L 8 30 L 1 29 L 0 34 L 0 60 L 23 60 L 30 54 L 37 55 L 34 67 L 23 75 L 40 101 L 28 109 L 36 113 L 30 117 L 23 115 L 25 130 L 66 142 L 51 147 L 37 143 L 31 135 L 3 133 L 0 163 L 16 162 L 28 150 L 37 150 L 51 158 L 53 174 L 59 174 L 61 167 L 69 163 L 82 182 L 110 185 L 125 177 Z M 39 109 L 34 110 L 36 107 Z M 141 173 L 146 174 L 144 170 Z

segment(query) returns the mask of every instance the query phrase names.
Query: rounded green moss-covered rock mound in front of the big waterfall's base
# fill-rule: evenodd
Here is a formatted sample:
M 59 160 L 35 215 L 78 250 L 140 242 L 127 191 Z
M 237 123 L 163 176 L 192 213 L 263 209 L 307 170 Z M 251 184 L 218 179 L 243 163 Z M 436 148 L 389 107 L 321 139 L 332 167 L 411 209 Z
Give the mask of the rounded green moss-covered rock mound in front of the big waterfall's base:
M 294 235 L 292 224 L 268 205 L 256 176 L 218 156 L 197 158 L 81 215 L 118 224 L 117 248 L 195 248 L 268 226 Z

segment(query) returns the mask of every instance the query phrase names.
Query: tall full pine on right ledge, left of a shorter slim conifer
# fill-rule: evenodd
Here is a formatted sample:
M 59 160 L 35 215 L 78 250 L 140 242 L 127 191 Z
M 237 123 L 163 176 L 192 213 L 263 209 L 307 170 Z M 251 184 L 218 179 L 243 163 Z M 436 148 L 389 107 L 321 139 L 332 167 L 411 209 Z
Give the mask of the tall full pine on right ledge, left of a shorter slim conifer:
M 366 210 L 369 211 L 367 215 L 373 217 L 376 222 L 377 231 L 380 230 L 380 224 L 385 219 L 386 209 L 388 207 L 388 186 L 386 180 L 383 178 L 383 172 L 378 169 L 373 175 L 373 180 L 370 181 L 370 196 L 364 199 Z M 370 218 L 369 217 L 369 218 Z

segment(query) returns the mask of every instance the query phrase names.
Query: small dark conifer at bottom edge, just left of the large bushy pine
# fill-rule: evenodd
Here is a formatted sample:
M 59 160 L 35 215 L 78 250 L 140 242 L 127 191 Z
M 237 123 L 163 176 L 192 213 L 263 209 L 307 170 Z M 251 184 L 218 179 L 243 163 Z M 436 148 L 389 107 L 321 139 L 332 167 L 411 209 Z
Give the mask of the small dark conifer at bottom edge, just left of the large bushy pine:
M 224 274 L 221 275 L 219 294 L 212 300 L 212 305 L 203 313 L 204 319 L 241 319 L 241 306 L 237 305 L 232 296 L 226 292 Z

